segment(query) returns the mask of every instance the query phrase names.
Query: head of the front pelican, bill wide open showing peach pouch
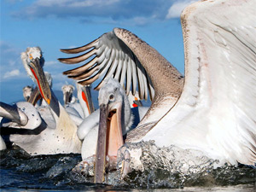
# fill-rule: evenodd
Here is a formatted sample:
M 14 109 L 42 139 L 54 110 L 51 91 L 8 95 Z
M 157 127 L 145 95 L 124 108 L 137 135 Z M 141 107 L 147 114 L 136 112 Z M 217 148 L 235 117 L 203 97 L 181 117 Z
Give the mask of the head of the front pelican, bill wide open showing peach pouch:
M 118 149 L 124 144 L 123 135 L 132 123 L 130 103 L 125 90 L 116 79 L 108 79 L 108 83 L 99 91 L 100 122 L 96 147 L 96 183 L 102 182 L 105 169 L 105 155 L 110 166 L 116 163 Z M 113 164 L 113 165 L 111 165 Z

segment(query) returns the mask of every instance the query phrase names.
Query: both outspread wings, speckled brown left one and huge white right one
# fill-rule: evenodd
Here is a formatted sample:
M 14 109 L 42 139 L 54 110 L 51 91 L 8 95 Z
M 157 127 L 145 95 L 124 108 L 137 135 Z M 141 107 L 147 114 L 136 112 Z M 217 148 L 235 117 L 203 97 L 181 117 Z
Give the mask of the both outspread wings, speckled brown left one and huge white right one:
M 151 108 L 126 142 L 154 140 L 201 150 L 209 158 L 237 165 L 256 162 L 256 2 L 208 0 L 183 10 L 185 77 L 133 33 L 114 28 L 60 59 L 84 66 L 64 72 L 80 84 L 105 75 L 125 81 Z M 104 79 L 103 78 L 103 79 Z M 132 79 L 132 80 L 131 80 Z M 96 89 L 102 86 L 100 83 Z M 153 90 L 154 88 L 154 90 Z

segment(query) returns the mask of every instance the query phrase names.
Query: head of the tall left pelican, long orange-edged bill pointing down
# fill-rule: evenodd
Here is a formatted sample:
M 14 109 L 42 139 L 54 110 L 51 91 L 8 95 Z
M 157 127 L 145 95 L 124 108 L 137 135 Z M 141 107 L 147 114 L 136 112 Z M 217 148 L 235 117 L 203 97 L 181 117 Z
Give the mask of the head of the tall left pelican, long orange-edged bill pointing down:
M 41 95 L 49 104 L 51 100 L 51 92 L 49 84 L 44 75 L 44 57 L 39 47 L 27 48 L 26 52 L 21 53 L 21 60 L 26 69 L 26 73 L 32 78 L 35 84 L 38 85 Z

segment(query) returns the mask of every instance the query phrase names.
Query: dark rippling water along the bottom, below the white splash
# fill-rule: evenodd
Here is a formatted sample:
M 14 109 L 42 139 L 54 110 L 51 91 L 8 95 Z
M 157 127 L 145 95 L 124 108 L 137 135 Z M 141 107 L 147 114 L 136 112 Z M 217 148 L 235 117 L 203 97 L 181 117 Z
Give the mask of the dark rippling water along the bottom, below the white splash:
M 150 148 L 154 148 L 154 143 Z M 134 146 L 133 146 L 134 147 Z M 139 146 L 142 147 L 142 146 Z M 148 144 L 143 148 L 149 148 Z M 156 148 L 157 149 L 157 148 Z M 159 150 L 159 149 L 157 149 Z M 255 191 L 256 172 L 248 166 L 224 166 L 217 169 L 207 167 L 202 172 L 183 174 L 176 171 L 179 163 L 170 167 L 160 165 L 161 160 L 148 164 L 158 154 L 143 153 L 144 171 L 131 168 L 131 172 L 120 182 L 119 171 L 109 172 L 108 184 L 94 184 L 93 177 L 84 177 L 72 171 L 81 160 L 80 154 L 56 154 L 30 156 L 18 147 L 1 152 L 1 191 L 26 190 L 131 190 L 131 191 Z M 160 151 L 159 153 L 163 153 Z M 149 155 L 149 156 L 148 156 Z M 150 157 L 151 156 L 151 157 Z M 208 161 L 207 161 L 208 162 Z M 148 166 L 147 166 L 147 165 Z M 174 167 L 177 166 L 176 168 Z M 132 166 L 131 166 L 132 167 Z M 191 168 L 191 167 L 190 167 Z M 165 190 L 163 190 L 165 189 Z

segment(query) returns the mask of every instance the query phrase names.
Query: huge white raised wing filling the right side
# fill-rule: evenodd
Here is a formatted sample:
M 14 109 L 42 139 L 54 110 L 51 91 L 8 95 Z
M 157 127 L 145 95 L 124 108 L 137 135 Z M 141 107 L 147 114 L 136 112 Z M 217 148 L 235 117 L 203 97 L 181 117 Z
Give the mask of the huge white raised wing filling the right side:
M 147 139 L 213 149 L 231 163 L 256 162 L 255 13 L 255 0 L 201 1 L 184 9 L 183 93 Z

